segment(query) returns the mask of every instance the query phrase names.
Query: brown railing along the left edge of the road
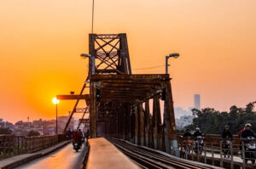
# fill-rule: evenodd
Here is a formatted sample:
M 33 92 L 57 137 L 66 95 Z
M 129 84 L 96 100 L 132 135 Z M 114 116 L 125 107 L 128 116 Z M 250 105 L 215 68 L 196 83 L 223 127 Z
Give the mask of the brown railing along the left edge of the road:
M 65 134 L 34 137 L 0 135 L 0 160 L 45 149 L 64 140 Z

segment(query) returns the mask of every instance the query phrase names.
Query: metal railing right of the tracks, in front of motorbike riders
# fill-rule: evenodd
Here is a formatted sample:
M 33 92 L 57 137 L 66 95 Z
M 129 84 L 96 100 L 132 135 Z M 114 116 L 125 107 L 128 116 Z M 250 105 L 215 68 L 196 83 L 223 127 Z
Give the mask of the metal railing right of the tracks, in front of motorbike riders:
M 256 139 L 224 139 L 218 135 L 203 138 L 178 136 L 182 158 L 231 169 L 255 167 L 252 165 L 256 159 L 255 148 L 247 148 L 248 143 L 255 142 Z

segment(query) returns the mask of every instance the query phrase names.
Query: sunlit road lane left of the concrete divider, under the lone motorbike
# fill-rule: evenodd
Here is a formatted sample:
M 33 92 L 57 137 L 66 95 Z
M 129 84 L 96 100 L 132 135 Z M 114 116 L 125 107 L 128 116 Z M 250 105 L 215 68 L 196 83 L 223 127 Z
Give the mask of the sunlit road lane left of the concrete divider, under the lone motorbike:
M 49 155 L 45 155 L 15 169 L 79 169 L 86 150 L 86 146 L 83 145 L 82 149 L 79 149 L 79 152 L 75 152 L 73 144 L 67 144 L 62 149 L 58 149 Z

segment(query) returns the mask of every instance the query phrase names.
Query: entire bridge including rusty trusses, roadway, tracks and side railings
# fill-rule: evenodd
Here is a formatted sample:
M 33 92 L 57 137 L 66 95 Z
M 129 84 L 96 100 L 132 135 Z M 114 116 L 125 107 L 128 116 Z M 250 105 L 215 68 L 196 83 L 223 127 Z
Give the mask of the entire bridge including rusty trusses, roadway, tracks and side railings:
M 90 128 L 89 147 L 84 144 L 75 153 L 65 134 L 1 136 L 2 168 L 254 167 L 238 161 L 237 144 L 230 148 L 236 149 L 230 159 L 225 159 L 224 140 L 219 137 L 203 138 L 203 154 L 186 150 L 175 126 L 172 78 L 169 74 L 132 74 L 125 33 L 90 34 L 89 54 L 81 56 L 89 59 L 89 72 L 80 93 L 60 94 L 57 99 L 76 100 L 63 132 L 73 115 L 80 113 L 77 129 Z M 86 87 L 90 93 L 85 93 Z M 79 108 L 80 101 L 86 107 Z M 86 113 L 89 119 L 84 118 Z M 245 155 L 245 149 L 241 150 Z

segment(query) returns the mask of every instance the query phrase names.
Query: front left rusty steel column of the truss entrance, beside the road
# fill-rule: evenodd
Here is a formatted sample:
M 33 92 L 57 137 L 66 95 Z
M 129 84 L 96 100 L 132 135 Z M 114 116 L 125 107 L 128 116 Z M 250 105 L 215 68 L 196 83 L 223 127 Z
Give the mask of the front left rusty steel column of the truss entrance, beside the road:
M 97 137 L 96 82 L 90 82 L 90 137 Z

